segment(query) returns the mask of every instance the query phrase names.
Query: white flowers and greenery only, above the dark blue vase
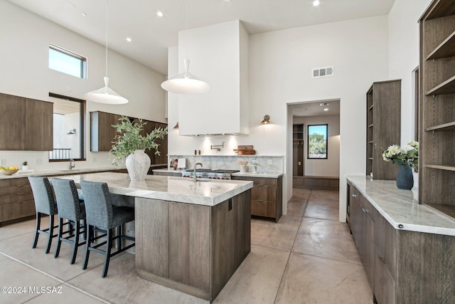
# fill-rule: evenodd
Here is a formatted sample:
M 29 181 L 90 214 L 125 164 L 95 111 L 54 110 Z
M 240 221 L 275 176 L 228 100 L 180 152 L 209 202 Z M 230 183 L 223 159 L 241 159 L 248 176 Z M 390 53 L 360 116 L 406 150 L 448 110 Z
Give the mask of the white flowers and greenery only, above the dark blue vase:
M 391 145 L 382 152 L 385 162 L 404 164 L 407 167 L 417 167 L 419 164 L 419 142 L 408 142 L 404 147 Z

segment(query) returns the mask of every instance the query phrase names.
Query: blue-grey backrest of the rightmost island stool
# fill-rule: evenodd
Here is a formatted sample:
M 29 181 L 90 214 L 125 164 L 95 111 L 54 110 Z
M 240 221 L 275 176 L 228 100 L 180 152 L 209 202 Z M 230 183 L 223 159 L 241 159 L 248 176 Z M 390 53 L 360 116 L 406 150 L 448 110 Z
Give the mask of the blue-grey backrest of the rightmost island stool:
M 80 182 L 84 194 L 87 224 L 100 229 L 112 228 L 112 201 L 107 184 L 104 182 Z

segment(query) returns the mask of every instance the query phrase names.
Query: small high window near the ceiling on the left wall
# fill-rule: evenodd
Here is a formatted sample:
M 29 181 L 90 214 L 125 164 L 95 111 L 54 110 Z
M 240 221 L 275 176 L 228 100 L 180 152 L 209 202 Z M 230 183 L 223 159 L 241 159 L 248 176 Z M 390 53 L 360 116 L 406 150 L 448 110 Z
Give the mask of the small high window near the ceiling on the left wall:
M 49 68 L 85 79 L 87 76 L 87 58 L 50 44 Z

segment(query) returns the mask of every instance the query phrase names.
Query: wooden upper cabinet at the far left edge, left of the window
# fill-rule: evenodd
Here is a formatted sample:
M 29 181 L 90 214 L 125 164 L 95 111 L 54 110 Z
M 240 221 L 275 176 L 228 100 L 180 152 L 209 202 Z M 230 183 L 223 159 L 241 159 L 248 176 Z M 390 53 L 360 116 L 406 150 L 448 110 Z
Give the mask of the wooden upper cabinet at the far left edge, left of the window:
M 0 150 L 52 151 L 53 103 L 0 94 Z

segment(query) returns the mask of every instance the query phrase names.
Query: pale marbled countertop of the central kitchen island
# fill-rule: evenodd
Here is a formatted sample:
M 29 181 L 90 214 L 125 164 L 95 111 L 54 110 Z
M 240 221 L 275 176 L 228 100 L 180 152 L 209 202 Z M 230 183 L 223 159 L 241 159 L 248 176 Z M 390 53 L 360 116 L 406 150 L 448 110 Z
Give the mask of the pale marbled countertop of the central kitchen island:
M 252 182 L 237 180 L 193 179 L 185 177 L 165 177 L 147 175 L 144 181 L 132 181 L 127 173 L 102 172 L 92 174 L 67 175 L 76 184 L 81 181 L 106 182 L 114 194 L 161 199 L 188 204 L 215 206 L 226 199 L 251 189 Z

